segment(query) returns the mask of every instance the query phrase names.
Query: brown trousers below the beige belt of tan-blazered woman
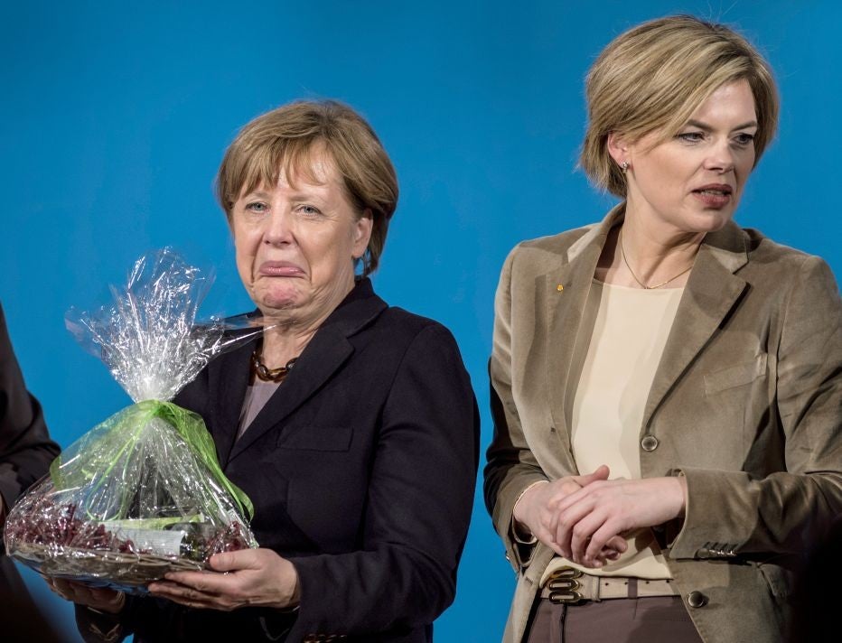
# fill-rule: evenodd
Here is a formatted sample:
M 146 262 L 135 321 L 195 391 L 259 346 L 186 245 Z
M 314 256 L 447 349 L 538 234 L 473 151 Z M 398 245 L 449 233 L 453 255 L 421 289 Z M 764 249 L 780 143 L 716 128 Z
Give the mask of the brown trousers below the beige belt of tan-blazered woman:
M 680 596 L 586 601 L 538 601 L 528 643 L 702 643 Z

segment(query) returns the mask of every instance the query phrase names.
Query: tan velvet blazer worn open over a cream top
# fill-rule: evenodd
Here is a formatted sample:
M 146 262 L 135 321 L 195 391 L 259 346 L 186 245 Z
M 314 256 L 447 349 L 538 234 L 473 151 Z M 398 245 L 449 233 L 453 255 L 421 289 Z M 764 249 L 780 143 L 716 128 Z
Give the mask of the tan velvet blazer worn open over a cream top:
M 570 418 L 587 346 L 575 338 L 622 216 L 521 243 L 502 270 L 485 498 L 519 574 L 510 643 L 553 555 L 512 541 L 511 510 L 532 482 L 578 472 Z M 707 235 L 640 437 L 643 477 L 687 477 L 686 517 L 656 535 L 686 603 L 701 594 L 688 606 L 701 637 L 781 641 L 793 575 L 842 513 L 842 302 L 828 266 L 734 223 Z

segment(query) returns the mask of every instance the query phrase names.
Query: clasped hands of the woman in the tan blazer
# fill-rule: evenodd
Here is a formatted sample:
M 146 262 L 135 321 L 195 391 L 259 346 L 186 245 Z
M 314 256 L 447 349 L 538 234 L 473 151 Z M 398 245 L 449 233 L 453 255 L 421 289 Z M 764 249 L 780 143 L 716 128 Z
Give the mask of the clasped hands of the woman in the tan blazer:
M 557 554 L 586 567 L 602 567 L 628 549 L 624 532 L 683 516 L 683 478 L 608 480 L 602 465 L 529 489 L 514 518 Z

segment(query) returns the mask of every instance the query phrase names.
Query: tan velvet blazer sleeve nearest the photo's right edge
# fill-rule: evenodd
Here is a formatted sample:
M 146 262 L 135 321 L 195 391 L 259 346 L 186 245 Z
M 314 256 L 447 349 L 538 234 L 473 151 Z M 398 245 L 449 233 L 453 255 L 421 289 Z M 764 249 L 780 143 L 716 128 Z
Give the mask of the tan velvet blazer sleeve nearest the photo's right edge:
M 679 471 L 688 506 L 673 558 L 804 553 L 842 513 L 842 301 L 819 257 L 801 264 L 781 319 L 770 411 L 786 471 Z

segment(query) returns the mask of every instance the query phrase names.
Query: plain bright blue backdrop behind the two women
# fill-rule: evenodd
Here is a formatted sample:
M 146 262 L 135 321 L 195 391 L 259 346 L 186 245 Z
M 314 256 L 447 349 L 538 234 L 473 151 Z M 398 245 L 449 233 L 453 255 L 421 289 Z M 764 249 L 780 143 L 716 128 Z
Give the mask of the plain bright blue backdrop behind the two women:
M 583 78 L 615 35 L 664 14 L 731 23 L 772 62 L 781 131 L 737 218 L 842 274 L 839 6 L 4 2 L 0 301 L 52 434 L 67 446 L 128 403 L 64 330 L 63 314 L 104 303 L 106 284 L 121 283 L 142 252 L 172 245 L 216 266 L 206 314 L 249 309 L 212 198 L 221 154 L 253 116 L 331 97 L 370 119 L 398 169 L 379 294 L 454 331 L 482 408 L 484 450 L 502 260 L 520 239 L 600 219 L 612 204 L 575 170 Z M 26 578 L 71 632 L 69 606 Z M 478 492 L 458 596 L 436 640 L 498 640 L 513 584 Z

